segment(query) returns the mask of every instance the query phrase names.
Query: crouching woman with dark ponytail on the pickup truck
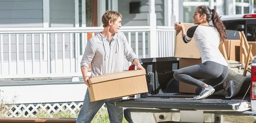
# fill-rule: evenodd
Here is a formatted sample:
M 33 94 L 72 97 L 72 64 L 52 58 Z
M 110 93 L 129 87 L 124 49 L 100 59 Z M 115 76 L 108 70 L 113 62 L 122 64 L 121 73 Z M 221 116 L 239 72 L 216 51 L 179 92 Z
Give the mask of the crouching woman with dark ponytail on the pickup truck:
M 228 64 L 218 48 L 219 44 L 226 39 L 225 26 L 218 13 L 207 6 L 198 6 L 193 19 L 194 24 L 198 24 L 198 26 L 189 28 L 187 34 L 183 23 L 175 23 L 174 26 L 175 30 L 182 31 L 185 43 L 189 43 L 192 37 L 195 38 L 202 64 L 179 69 L 174 72 L 173 77 L 176 80 L 198 86 L 199 93 L 194 97 L 195 100 L 204 99 L 220 89 L 225 89 L 228 92 L 226 97 L 231 97 L 234 92 L 234 84 L 233 81 L 221 83 L 228 75 Z

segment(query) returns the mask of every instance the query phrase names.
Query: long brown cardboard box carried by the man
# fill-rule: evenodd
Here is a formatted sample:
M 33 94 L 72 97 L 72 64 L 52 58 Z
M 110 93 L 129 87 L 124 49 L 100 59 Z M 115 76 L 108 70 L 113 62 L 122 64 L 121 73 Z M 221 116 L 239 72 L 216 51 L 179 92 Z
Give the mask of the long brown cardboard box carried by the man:
M 148 92 L 145 70 L 110 73 L 89 79 L 90 101 Z

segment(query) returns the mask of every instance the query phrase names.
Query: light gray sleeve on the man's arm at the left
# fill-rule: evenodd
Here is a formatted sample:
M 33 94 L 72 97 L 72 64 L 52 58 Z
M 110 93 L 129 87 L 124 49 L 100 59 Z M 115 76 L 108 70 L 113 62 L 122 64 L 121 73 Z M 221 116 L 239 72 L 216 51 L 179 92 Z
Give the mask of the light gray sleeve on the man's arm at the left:
M 89 40 L 86 44 L 83 58 L 81 60 L 81 67 L 85 66 L 89 68 L 89 64 L 92 62 L 94 54 L 95 54 L 94 47 Z

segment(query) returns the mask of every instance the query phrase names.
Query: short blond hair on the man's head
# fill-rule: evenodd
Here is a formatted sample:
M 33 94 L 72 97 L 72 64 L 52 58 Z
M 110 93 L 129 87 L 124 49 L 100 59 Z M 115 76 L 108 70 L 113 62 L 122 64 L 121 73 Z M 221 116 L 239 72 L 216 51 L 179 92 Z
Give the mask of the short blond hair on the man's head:
M 122 19 L 122 14 L 118 13 L 116 11 L 106 11 L 103 16 L 102 16 L 102 23 L 103 27 L 109 26 L 108 21 L 110 20 L 111 22 L 115 22 L 117 18 L 120 17 Z

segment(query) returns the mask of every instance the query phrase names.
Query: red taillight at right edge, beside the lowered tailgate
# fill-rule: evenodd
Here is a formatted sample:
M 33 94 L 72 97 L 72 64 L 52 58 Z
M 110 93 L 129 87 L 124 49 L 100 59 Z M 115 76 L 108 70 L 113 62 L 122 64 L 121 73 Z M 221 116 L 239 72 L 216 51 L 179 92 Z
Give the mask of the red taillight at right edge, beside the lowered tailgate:
M 256 60 L 253 60 L 251 68 L 251 100 L 256 100 Z

